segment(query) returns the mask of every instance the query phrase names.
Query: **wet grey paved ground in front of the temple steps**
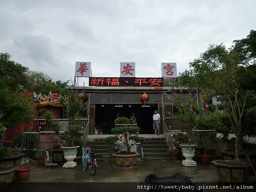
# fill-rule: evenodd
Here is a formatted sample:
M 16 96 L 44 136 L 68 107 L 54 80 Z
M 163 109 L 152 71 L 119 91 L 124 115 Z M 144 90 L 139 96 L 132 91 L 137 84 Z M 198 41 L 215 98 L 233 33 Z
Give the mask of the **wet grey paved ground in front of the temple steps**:
M 145 189 L 145 187 L 150 186 L 149 183 L 145 183 L 145 178 L 150 174 L 155 174 L 158 177 L 170 177 L 175 175 L 175 173 L 192 177 L 193 183 L 199 183 L 202 186 L 213 185 L 213 183 L 217 183 L 216 185 L 218 186 L 224 185 L 218 182 L 215 168 L 212 165 L 203 165 L 201 162 L 198 162 L 197 166 L 189 167 L 183 166 L 181 162 L 181 160 L 144 160 L 143 162 L 138 162 L 136 166 L 118 167 L 111 161 L 98 160 L 96 175 L 91 175 L 90 168 L 87 171 L 83 171 L 82 164 L 78 164 L 74 169 L 63 169 L 61 165 L 56 167 L 39 166 L 37 161 L 32 160 L 21 166 L 32 167 L 29 179 L 26 181 L 18 181 L 15 175 L 13 183 L 2 189 L 2 192 L 34 192 L 35 189 L 37 192 L 158 192 L 159 190 Z M 250 182 L 256 182 L 255 175 L 250 175 Z M 90 186 L 92 188 L 90 188 Z M 116 189 L 120 187 L 122 190 Z M 162 192 L 162 190 L 160 191 Z M 204 189 L 203 191 L 237 192 L 238 190 Z M 253 190 L 246 189 L 239 191 L 251 192 Z M 172 192 L 182 192 L 182 190 L 177 189 L 176 191 L 172 190 Z M 189 192 L 191 192 L 191 190 L 189 190 Z

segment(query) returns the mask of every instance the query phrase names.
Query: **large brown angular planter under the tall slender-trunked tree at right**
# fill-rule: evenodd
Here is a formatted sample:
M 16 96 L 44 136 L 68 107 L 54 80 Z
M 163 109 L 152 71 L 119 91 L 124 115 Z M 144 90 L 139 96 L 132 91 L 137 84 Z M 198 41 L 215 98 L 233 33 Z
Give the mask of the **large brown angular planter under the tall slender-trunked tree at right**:
M 244 183 L 249 181 L 250 165 L 226 165 L 215 160 L 211 164 L 215 167 L 218 180 L 224 183 Z

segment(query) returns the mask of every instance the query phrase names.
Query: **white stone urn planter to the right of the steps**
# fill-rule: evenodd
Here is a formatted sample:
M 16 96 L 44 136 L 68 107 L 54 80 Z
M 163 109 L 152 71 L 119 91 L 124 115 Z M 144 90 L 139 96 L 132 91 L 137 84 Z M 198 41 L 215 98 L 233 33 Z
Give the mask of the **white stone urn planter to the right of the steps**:
M 192 160 L 195 156 L 195 144 L 180 144 L 182 149 L 182 154 L 186 158 L 182 161 L 182 165 L 184 166 L 197 166 L 196 162 Z

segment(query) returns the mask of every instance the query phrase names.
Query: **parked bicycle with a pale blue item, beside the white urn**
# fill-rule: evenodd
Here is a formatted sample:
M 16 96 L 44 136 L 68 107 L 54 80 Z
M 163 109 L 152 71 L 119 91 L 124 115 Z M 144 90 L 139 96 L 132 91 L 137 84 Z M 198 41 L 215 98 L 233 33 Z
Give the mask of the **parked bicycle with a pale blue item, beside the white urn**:
M 84 167 L 84 171 L 87 171 L 88 168 L 90 167 L 91 174 L 95 175 L 97 170 L 97 159 L 96 159 L 97 154 L 95 154 L 94 152 L 90 152 L 91 149 L 92 149 L 91 147 L 83 147 L 83 156 L 84 156 L 83 158 L 86 158 L 86 156 L 88 156 L 86 166 Z

